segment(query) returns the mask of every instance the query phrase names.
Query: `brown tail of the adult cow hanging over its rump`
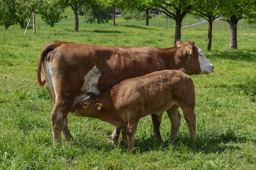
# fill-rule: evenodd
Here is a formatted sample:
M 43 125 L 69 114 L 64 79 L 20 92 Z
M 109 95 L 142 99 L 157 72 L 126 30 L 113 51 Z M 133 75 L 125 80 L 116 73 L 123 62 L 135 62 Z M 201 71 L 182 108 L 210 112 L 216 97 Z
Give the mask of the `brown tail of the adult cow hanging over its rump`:
M 59 41 L 54 41 L 49 44 L 47 44 L 41 51 L 41 54 L 38 59 L 38 69 L 37 69 L 37 76 L 38 76 L 38 85 L 43 86 L 44 83 L 46 82 L 45 76 L 44 76 L 44 71 L 42 71 L 42 64 L 44 61 L 44 56 L 46 56 L 50 51 L 54 50 L 58 46 L 61 45 L 61 42 Z

